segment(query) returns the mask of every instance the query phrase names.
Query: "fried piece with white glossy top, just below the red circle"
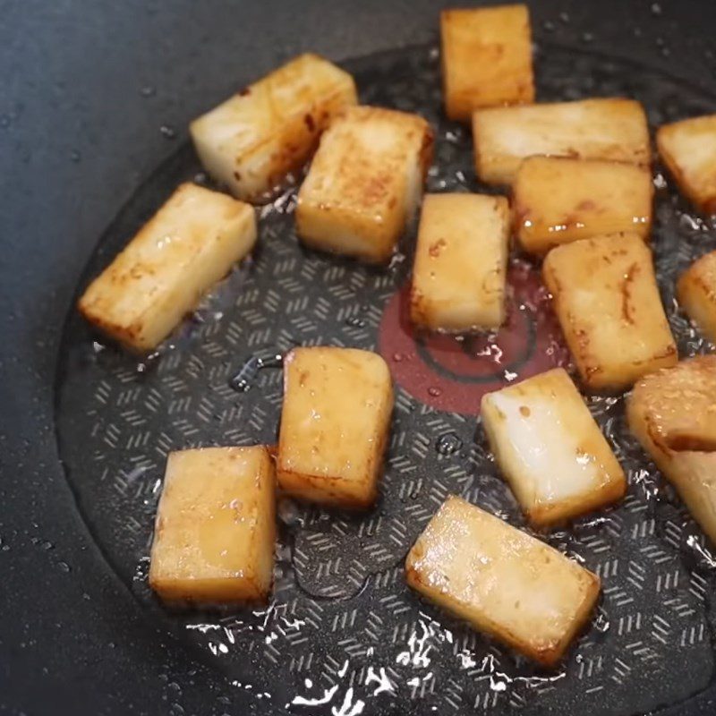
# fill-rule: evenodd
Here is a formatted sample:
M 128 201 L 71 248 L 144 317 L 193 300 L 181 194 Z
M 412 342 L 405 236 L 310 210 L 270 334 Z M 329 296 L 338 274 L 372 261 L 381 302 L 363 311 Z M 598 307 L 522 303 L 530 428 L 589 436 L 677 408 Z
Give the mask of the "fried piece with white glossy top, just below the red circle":
M 498 465 L 535 526 L 624 496 L 624 471 L 564 369 L 486 394 L 481 414 Z

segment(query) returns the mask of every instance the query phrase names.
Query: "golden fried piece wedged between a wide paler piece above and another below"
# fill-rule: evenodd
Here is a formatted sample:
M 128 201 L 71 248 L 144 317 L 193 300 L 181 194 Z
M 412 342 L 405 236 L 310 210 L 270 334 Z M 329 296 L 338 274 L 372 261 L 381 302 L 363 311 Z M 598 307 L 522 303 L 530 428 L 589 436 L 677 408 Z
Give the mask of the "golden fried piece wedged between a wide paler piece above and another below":
M 512 185 L 517 238 L 543 256 L 560 243 L 652 229 L 653 183 L 643 166 L 593 159 L 527 158 Z

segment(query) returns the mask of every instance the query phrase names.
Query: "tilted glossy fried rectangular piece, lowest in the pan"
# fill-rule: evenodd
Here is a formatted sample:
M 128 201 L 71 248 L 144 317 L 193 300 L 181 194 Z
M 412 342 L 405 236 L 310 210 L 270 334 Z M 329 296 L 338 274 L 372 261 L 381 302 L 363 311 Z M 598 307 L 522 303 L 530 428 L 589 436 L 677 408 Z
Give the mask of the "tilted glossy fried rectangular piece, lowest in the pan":
M 597 575 L 464 499 L 448 497 L 405 561 L 413 589 L 545 666 L 586 624 Z

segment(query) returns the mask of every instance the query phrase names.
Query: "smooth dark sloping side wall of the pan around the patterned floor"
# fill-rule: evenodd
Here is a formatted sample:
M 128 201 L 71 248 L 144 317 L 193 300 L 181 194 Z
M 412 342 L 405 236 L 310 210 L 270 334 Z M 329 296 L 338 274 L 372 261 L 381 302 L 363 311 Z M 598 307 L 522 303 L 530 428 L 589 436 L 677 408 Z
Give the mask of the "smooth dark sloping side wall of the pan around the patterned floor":
M 531 9 L 535 38 L 545 53 L 553 47 L 565 57 L 574 49 L 601 54 L 607 64 L 611 57 L 620 71 L 635 76 L 656 72 L 667 78 L 672 97 L 663 99 L 676 103 L 675 113 L 716 110 L 716 8 L 708 0 L 543 0 L 532 3 Z M 272 676 L 271 698 L 259 698 L 250 681 L 247 686 L 260 669 L 256 654 L 247 653 L 243 661 L 234 656 L 229 678 L 216 659 L 177 638 L 172 626 L 177 618 L 143 601 L 132 576 L 127 578 L 107 550 L 107 541 L 98 537 L 96 523 L 87 519 L 88 493 L 76 489 L 61 461 L 82 465 L 90 460 L 89 450 L 86 456 L 81 451 L 85 423 L 78 412 L 73 428 L 72 411 L 55 411 L 58 361 L 66 360 L 61 354 L 68 345 L 65 319 L 100 237 L 106 253 L 104 259 L 101 252 L 95 256 L 90 268 L 107 260 L 132 221 L 158 205 L 173 172 L 181 174 L 190 166 L 183 143 L 193 116 L 304 49 L 339 61 L 363 58 L 355 67 L 367 81 L 375 80 L 376 67 L 388 67 L 384 80 L 389 81 L 390 68 L 400 65 L 404 55 L 377 60 L 368 55 L 413 46 L 418 49 L 408 55 L 420 55 L 421 47 L 429 51 L 437 44 L 438 10 L 439 3 L 429 0 L 306 0 L 300 6 L 277 0 L 0 4 L 0 712 L 270 714 L 286 712 L 286 704 L 294 700 L 295 675 L 286 665 Z M 568 72 L 568 61 L 562 62 Z M 679 105 L 684 97 L 686 105 Z M 138 194 L 141 187 L 143 193 Z M 157 196 L 148 194 L 147 187 Z M 137 196 L 148 205 L 138 206 Z M 123 206 L 126 210 L 120 213 Z M 707 227 L 690 241 L 708 242 L 710 231 Z M 338 337 L 335 333 L 326 338 Z M 241 345 L 236 348 L 235 367 L 247 353 Z M 110 355 L 109 360 L 119 359 Z M 58 415 L 64 415 L 64 432 L 57 430 Z M 465 430 L 470 435 L 472 428 Z M 72 456 L 58 448 L 63 434 L 73 436 Z M 654 472 L 644 459 L 643 464 L 647 473 Z M 648 539 L 635 533 L 632 541 L 638 545 Z M 656 539 L 669 550 L 663 534 Z M 635 567 L 636 582 L 637 573 Z M 702 568 L 698 575 L 705 584 L 703 601 L 708 602 L 711 574 Z M 136 576 L 141 584 L 141 574 Z M 660 632 L 650 618 L 662 614 L 664 601 L 661 592 L 652 595 L 652 613 L 644 612 L 641 618 L 651 624 L 650 644 L 654 658 L 663 662 L 666 686 L 644 686 L 637 677 L 648 668 L 648 660 L 640 661 L 638 648 L 625 651 L 620 660 L 633 678 L 620 685 L 604 679 L 603 696 L 597 697 L 608 703 L 609 694 L 619 688 L 614 713 L 643 712 L 644 704 L 665 714 L 716 711 L 712 646 L 707 637 L 700 643 L 695 633 L 694 642 L 701 646 L 689 651 L 688 633 L 682 644 L 668 627 L 661 626 Z M 436 629 L 452 626 L 417 600 L 411 608 L 420 610 L 416 614 L 423 623 L 439 625 Z M 627 613 L 618 626 L 618 609 L 609 602 L 604 609 L 612 618 L 609 635 L 644 628 L 637 629 L 634 614 L 629 626 Z M 710 624 L 708 604 L 704 609 Z M 365 628 L 361 618 L 346 618 L 345 638 Z M 660 638 L 653 637 L 655 628 Z M 324 630 L 328 633 L 330 625 Z M 638 641 L 635 637 L 632 644 Z M 334 645 L 330 636 L 325 651 Z M 584 662 L 581 668 L 586 673 L 600 667 Z M 519 665 L 508 664 L 509 669 L 522 673 Z M 668 678 L 669 669 L 676 678 Z M 319 673 L 301 673 L 302 694 L 323 693 L 318 683 L 312 690 L 307 686 L 306 679 L 318 682 Z M 432 706 L 440 713 L 520 710 L 519 703 L 491 697 L 479 703 L 473 698 L 460 701 L 454 692 L 465 676 L 456 670 L 455 685 L 445 669 L 443 673 L 446 680 L 437 682 L 432 694 L 429 688 L 423 700 L 382 694 L 363 700 L 362 712 L 422 713 Z M 468 680 L 484 680 L 485 673 Z M 493 669 L 488 676 L 495 681 L 500 673 Z M 589 685 L 577 685 L 576 691 L 586 692 L 598 681 L 584 681 Z M 499 678 L 495 683 L 492 693 L 499 695 Z M 294 704 L 292 710 L 350 713 L 359 708 L 358 684 L 347 700 L 344 686 L 337 701 Z M 562 699 L 561 685 L 553 686 L 547 696 L 527 699 L 531 712 L 588 712 L 587 704 L 596 703 L 594 697 Z

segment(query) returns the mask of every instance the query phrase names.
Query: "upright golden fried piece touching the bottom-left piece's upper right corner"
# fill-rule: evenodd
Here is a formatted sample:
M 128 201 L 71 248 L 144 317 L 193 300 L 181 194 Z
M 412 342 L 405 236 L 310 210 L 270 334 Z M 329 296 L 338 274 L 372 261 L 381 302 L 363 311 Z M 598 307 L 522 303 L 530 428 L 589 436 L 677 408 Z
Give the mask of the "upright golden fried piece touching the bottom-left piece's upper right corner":
M 294 348 L 284 361 L 278 484 L 325 505 L 371 507 L 393 410 L 386 362 L 353 348 Z

